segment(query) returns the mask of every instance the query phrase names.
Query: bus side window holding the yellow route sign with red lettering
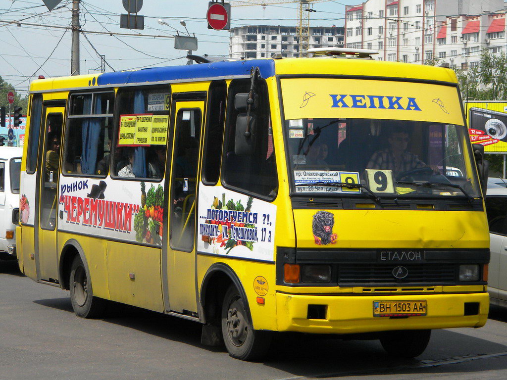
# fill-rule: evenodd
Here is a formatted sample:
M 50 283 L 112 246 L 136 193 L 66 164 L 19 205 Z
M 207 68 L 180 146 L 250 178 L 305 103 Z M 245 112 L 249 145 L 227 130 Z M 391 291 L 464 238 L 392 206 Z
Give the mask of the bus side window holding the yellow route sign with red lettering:
M 119 128 L 111 172 L 122 178 L 164 177 L 169 125 L 167 85 L 118 93 Z

